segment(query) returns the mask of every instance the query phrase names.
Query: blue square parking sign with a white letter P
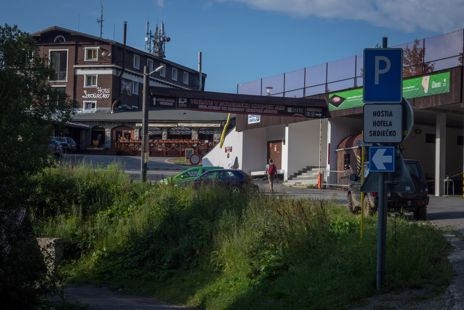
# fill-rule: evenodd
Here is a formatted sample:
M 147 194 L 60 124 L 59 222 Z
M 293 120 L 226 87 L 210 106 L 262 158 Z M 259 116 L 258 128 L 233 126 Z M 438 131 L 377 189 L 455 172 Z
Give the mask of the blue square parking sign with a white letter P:
M 362 100 L 365 103 L 401 103 L 403 49 L 364 49 Z

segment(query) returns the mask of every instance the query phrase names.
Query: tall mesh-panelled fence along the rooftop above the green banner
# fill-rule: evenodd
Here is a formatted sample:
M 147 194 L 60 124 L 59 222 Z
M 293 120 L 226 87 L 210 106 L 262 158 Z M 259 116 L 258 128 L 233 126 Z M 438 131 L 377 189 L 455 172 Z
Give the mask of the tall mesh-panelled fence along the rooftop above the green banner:
M 413 45 L 414 42 L 409 42 L 390 47 L 401 47 L 406 51 L 406 46 L 412 49 Z M 421 39 L 418 41 L 417 48 L 423 51 L 419 53 L 422 61 L 415 59 L 415 63 L 409 64 L 405 57 L 403 70 L 405 77 L 464 66 L 464 29 Z M 266 87 L 273 87 L 270 90 L 271 96 L 296 98 L 334 92 L 362 86 L 362 65 L 363 55 L 354 55 L 346 59 L 242 83 L 238 88 L 241 94 L 262 96 L 266 95 Z

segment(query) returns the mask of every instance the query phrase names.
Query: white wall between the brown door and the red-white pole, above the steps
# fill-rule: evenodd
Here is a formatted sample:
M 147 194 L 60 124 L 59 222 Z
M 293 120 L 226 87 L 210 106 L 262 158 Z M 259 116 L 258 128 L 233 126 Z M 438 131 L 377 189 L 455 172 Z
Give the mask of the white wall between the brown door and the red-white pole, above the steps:
M 327 125 L 328 120 L 322 119 L 321 166 L 324 167 L 327 158 Z M 306 166 L 319 166 L 319 145 L 321 122 L 318 119 L 288 125 L 286 134 L 287 177 L 295 174 Z

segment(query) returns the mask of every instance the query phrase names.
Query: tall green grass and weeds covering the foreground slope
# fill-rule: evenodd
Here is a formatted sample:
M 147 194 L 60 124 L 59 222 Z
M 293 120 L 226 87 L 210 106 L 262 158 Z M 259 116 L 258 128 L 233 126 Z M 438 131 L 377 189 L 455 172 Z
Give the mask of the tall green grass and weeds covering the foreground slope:
M 150 185 L 123 171 L 81 164 L 37 176 L 35 228 L 64 238 L 69 282 L 204 309 L 338 309 L 374 293 L 376 217 L 361 243 L 359 216 L 335 199 Z M 52 176 L 72 192 L 45 186 Z M 449 283 L 432 225 L 389 218 L 387 248 L 386 289 Z

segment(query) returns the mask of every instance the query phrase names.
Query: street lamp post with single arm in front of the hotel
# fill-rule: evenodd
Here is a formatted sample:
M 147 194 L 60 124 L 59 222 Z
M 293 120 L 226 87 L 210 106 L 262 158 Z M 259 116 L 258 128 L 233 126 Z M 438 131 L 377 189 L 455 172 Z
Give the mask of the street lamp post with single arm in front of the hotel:
M 140 167 L 140 176 L 142 181 L 147 181 L 147 162 L 149 154 L 148 144 L 148 100 L 150 92 L 150 74 L 160 72 L 164 66 L 157 67 L 154 71 L 148 73 L 148 66 L 143 67 L 143 97 L 142 97 L 142 160 Z

